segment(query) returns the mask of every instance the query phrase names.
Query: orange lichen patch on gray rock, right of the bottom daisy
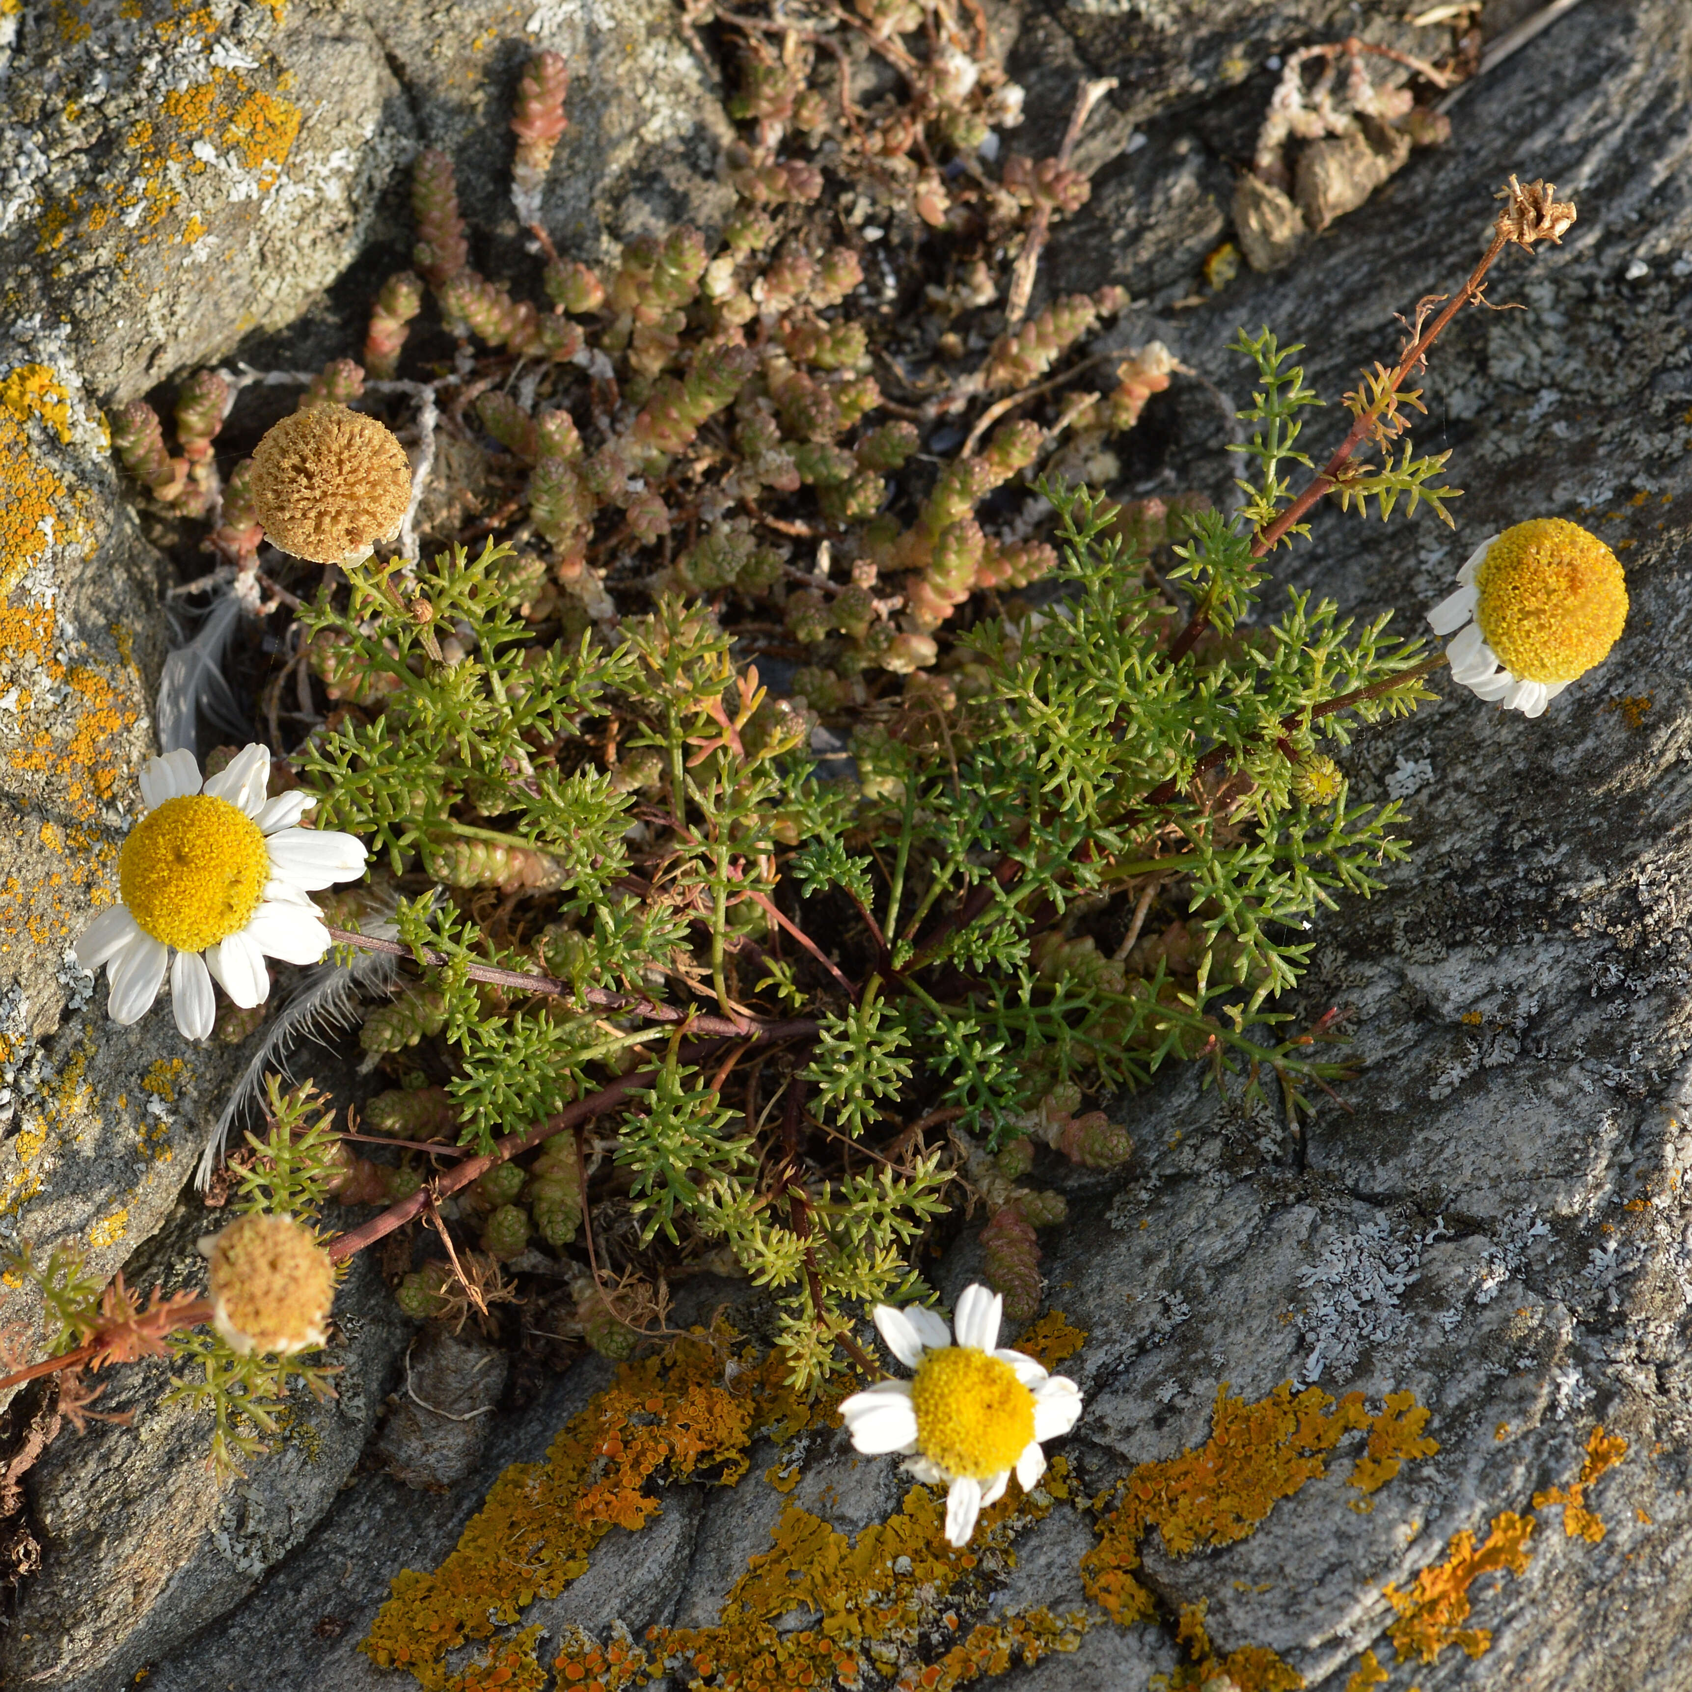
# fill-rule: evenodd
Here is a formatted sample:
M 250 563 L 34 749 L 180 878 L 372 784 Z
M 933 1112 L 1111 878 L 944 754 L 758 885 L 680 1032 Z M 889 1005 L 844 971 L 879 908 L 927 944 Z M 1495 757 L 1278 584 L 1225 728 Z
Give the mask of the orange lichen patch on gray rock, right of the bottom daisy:
M 1086 1596 L 1113 1621 L 1151 1619 L 1156 1604 L 1132 1570 L 1152 1528 L 1174 1557 L 1233 1545 L 1255 1533 L 1276 1502 L 1327 1474 L 1327 1455 L 1347 1433 L 1365 1430 L 1369 1447 L 1349 1480 L 1372 1492 L 1406 1460 L 1438 1450 L 1421 1435 L 1425 1421 L 1426 1411 L 1418 1411 L 1408 1393 L 1394 1393 L 1371 1415 L 1362 1393 L 1347 1393 L 1335 1404 L 1320 1387 L 1294 1396 L 1291 1381 L 1283 1381 L 1266 1399 L 1247 1404 L 1228 1398 L 1223 1382 L 1210 1438 L 1179 1457 L 1140 1464 L 1117 1489 L 1117 1508 L 1098 1524 L 1098 1545 L 1081 1558 Z

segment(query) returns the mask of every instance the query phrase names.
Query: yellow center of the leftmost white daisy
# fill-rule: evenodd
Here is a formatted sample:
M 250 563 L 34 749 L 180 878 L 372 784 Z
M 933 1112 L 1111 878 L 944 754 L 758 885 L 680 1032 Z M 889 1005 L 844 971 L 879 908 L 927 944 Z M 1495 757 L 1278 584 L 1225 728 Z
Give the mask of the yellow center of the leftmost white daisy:
M 227 799 L 168 799 L 135 824 L 118 854 L 118 888 L 142 934 L 205 951 L 244 929 L 271 854 L 259 826 Z

